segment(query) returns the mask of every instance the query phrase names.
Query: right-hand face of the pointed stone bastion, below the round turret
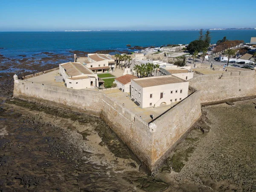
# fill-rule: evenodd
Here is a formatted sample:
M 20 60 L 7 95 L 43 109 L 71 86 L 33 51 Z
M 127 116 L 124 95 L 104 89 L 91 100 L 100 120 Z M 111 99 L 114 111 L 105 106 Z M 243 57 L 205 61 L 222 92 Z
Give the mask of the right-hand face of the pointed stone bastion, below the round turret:
M 197 90 L 154 121 L 157 125 L 151 157 L 154 166 L 166 158 L 200 116 L 200 91 Z

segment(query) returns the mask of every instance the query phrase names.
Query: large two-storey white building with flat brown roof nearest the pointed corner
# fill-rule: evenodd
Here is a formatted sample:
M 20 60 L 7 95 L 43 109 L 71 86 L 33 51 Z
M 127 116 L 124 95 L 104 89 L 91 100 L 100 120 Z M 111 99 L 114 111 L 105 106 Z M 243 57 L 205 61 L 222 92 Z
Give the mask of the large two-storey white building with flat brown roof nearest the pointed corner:
M 189 82 L 175 76 L 131 79 L 131 99 L 141 108 L 179 102 L 188 96 Z

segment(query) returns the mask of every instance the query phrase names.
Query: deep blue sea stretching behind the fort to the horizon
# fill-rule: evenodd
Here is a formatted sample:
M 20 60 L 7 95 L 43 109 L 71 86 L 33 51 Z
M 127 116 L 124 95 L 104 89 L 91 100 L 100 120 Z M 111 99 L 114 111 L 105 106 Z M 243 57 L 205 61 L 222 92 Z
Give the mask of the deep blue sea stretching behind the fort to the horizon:
M 205 31 L 204 31 L 205 32 Z M 210 31 L 212 43 L 224 36 L 228 40 L 250 42 L 256 30 Z M 0 32 L 0 54 L 13 58 L 40 52 L 70 54 L 70 50 L 94 52 L 96 50 L 128 50 L 131 46 L 161 46 L 189 44 L 199 31 L 99 31 L 99 32 Z

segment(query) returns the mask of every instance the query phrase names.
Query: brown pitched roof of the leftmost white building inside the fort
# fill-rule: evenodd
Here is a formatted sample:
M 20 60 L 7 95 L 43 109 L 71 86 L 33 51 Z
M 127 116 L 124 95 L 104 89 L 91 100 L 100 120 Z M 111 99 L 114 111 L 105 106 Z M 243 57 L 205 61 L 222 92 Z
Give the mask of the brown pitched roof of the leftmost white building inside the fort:
M 92 71 L 88 70 L 88 68 L 81 63 L 69 62 L 69 63 L 61 64 L 61 66 L 65 69 L 68 76 L 94 74 Z

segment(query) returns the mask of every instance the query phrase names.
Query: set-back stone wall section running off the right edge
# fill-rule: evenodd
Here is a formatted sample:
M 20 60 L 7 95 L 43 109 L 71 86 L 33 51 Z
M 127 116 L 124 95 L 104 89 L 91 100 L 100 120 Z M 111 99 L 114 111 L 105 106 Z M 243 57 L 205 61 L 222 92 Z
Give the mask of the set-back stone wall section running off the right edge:
M 201 90 L 201 102 L 256 96 L 256 75 L 254 70 L 201 75 L 189 80 L 189 85 Z

